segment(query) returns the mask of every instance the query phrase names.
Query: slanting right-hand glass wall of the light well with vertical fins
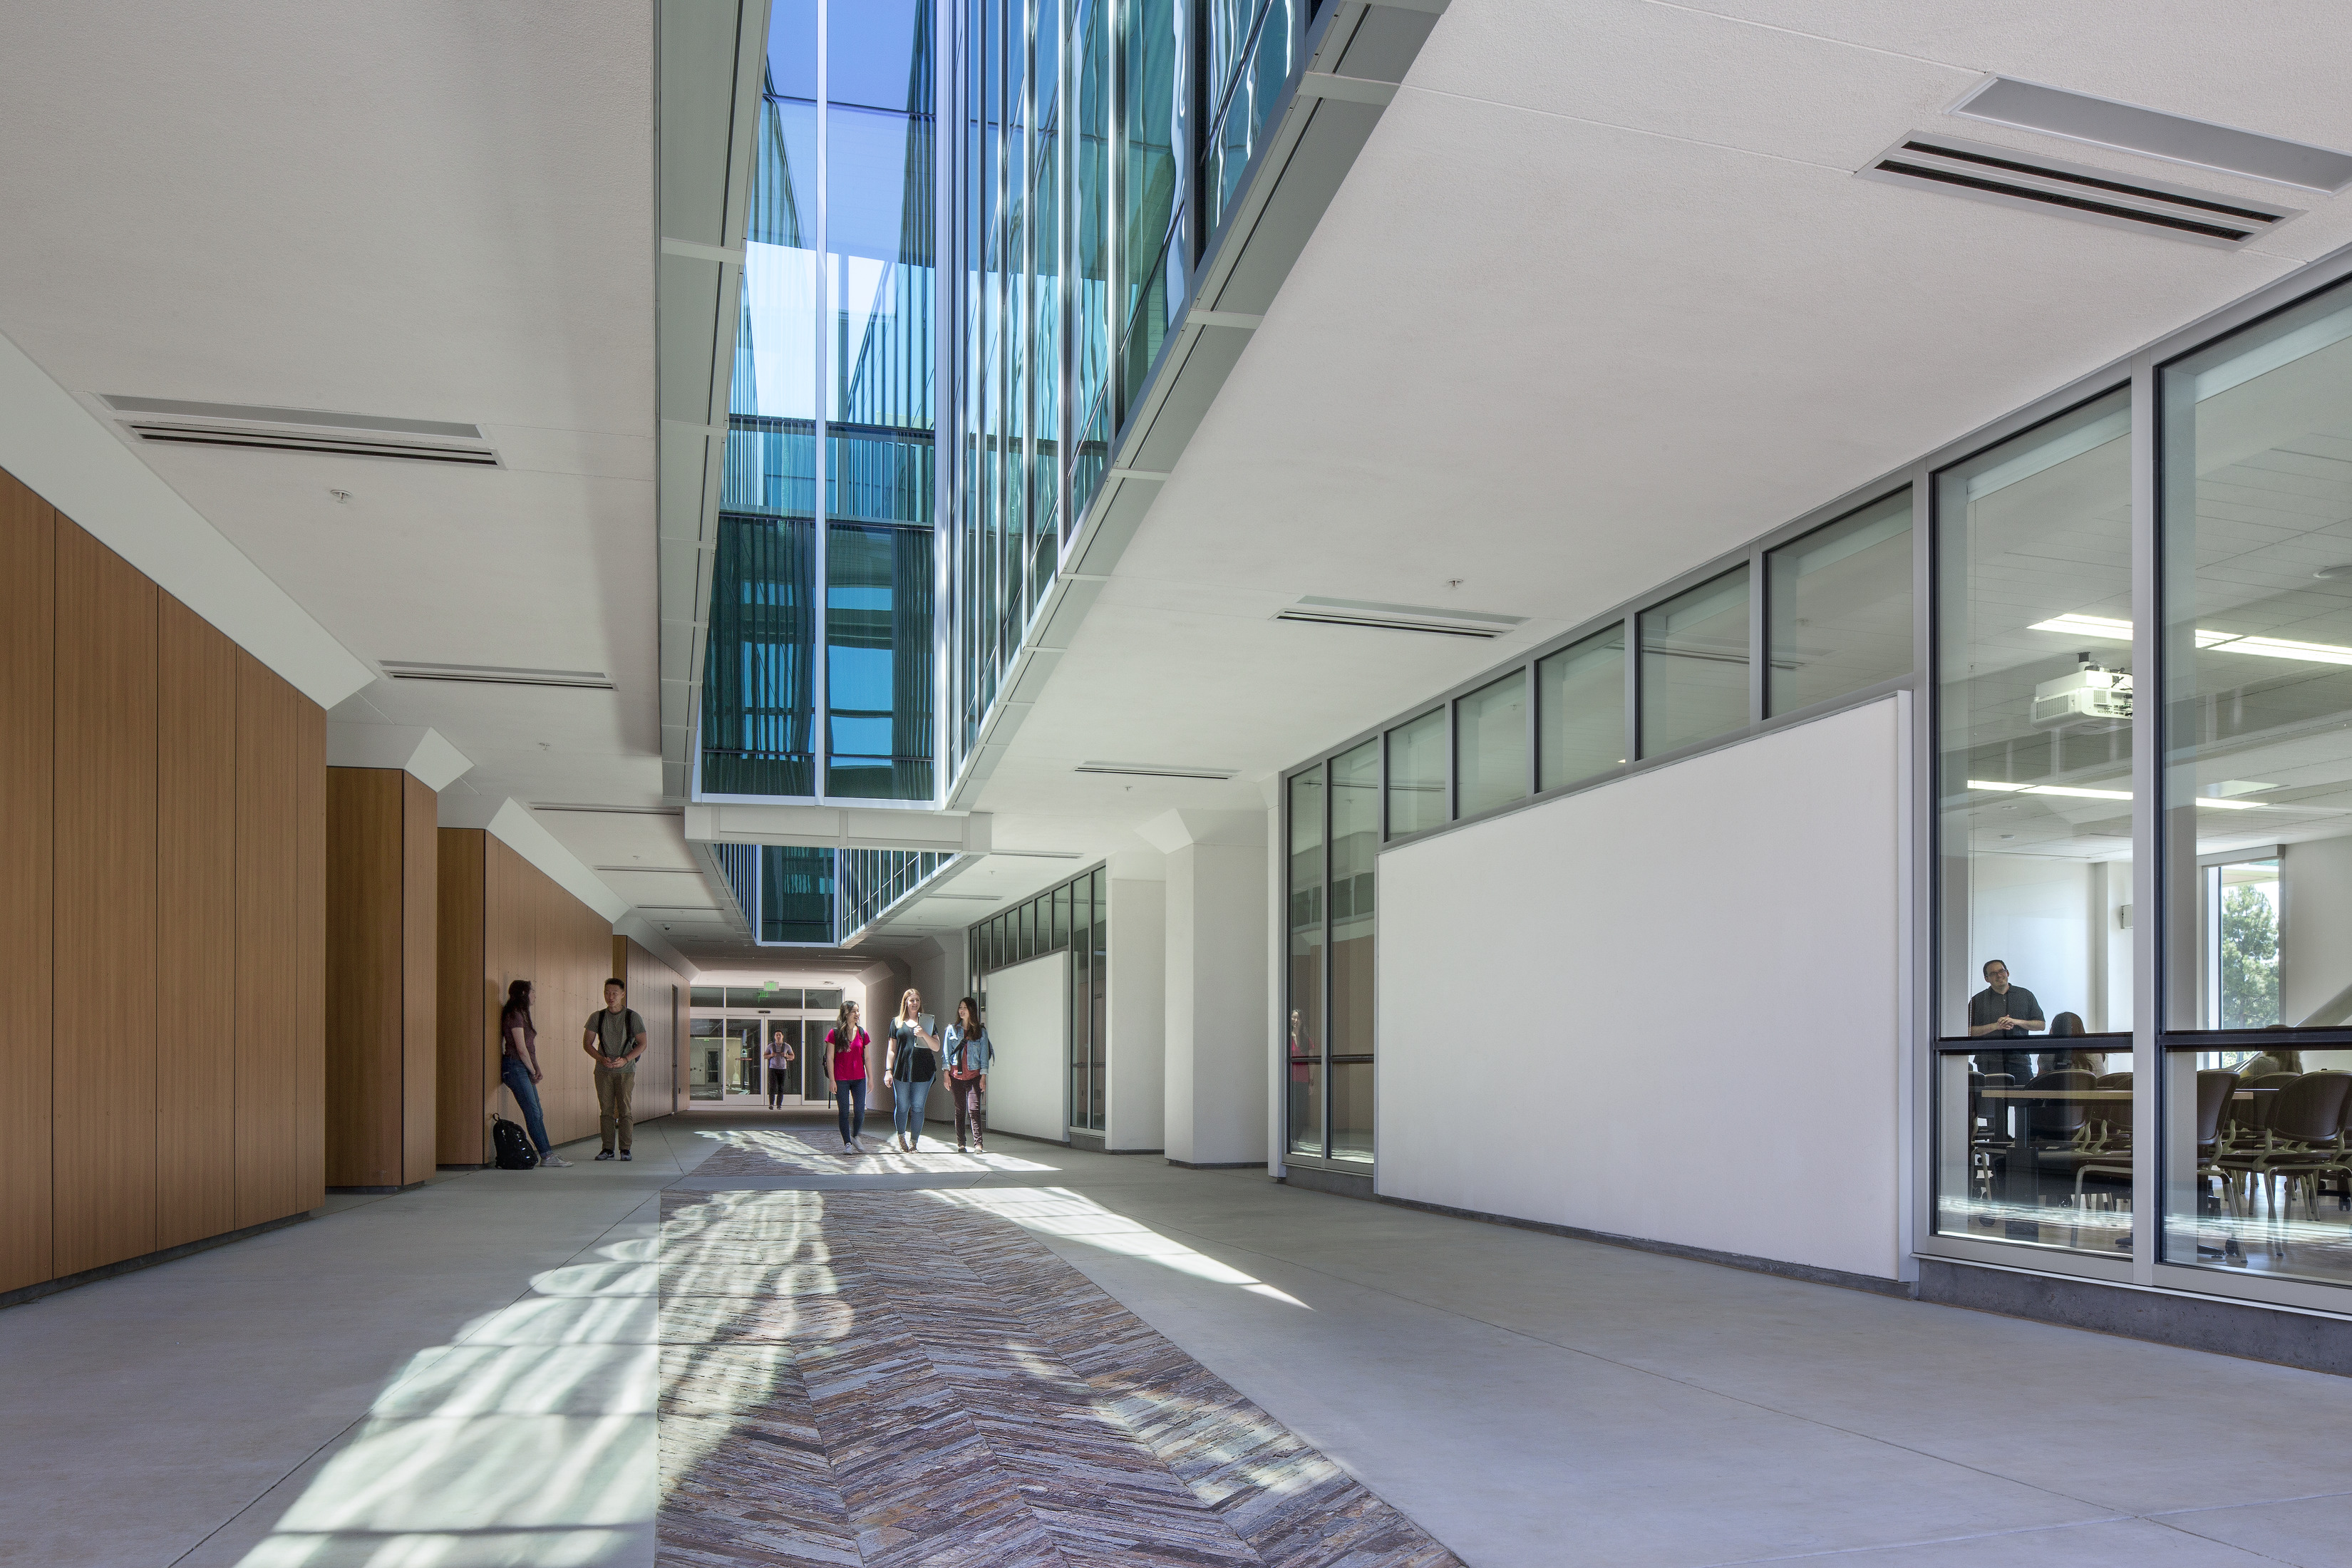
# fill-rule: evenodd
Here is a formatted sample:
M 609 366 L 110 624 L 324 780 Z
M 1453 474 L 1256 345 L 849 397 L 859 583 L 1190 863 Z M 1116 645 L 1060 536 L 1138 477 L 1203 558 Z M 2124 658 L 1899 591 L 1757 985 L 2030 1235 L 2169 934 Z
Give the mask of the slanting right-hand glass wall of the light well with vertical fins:
M 953 773 L 1303 59 L 1308 7 L 955 0 L 948 14 Z

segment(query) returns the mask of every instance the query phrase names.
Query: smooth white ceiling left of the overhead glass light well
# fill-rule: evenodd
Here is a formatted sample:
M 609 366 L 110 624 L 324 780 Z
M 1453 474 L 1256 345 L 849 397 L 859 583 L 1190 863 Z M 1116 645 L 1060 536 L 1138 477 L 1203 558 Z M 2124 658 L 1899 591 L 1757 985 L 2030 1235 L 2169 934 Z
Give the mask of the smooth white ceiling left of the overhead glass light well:
M 480 425 L 503 468 L 134 451 L 369 663 L 614 682 L 379 679 L 332 717 L 442 731 L 475 764 L 445 809 L 659 806 L 649 7 L 19 7 L 0 101 L 0 331 L 101 416 Z M 677 816 L 539 820 L 590 867 L 694 865 Z M 696 957 L 666 905 L 715 905 L 701 877 L 597 877 Z

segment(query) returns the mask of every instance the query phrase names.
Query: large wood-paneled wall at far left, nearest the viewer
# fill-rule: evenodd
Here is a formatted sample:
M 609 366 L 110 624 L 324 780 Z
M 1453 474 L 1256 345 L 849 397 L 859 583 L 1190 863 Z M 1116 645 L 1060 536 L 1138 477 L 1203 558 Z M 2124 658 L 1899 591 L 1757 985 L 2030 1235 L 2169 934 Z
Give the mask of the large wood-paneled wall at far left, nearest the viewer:
M 327 717 L 0 475 L 0 1291 L 315 1208 Z

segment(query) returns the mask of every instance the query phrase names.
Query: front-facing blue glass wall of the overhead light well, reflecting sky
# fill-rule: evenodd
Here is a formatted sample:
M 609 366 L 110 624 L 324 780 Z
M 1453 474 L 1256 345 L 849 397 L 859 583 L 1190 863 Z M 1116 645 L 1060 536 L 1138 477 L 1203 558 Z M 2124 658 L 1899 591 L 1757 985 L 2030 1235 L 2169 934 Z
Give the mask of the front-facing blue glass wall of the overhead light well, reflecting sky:
M 929 0 L 776 0 L 769 19 L 703 672 L 706 797 L 936 788 L 931 16 Z

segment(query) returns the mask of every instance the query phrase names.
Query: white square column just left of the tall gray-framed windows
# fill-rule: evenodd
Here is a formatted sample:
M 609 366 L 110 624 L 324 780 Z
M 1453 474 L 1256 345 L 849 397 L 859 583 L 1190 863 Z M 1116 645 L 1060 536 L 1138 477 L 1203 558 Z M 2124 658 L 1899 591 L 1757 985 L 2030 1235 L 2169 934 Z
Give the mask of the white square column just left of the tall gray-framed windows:
M 1169 811 L 1167 1157 L 1265 1164 L 1265 813 Z

